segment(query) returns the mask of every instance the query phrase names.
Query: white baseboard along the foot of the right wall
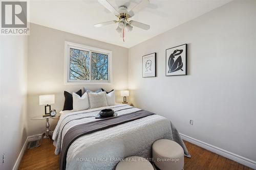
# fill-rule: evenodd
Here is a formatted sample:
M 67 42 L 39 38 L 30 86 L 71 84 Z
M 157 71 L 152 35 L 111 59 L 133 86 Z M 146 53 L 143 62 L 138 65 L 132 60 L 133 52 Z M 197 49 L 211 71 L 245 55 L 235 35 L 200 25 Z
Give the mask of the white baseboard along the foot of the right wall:
M 189 137 L 187 135 L 184 135 L 184 134 L 181 134 L 180 133 L 180 136 L 182 139 L 190 142 L 190 143 L 193 143 L 193 144 L 196 144 L 198 145 L 199 147 L 202 147 L 208 151 L 211 151 L 211 152 L 214 152 L 218 155 L 221 155 L 221 156 L 224 156 L 228 159 L 231 159 L 233 161 L 236 161 L 238 163 L 241 163 L 245 166 L 248 166 L 252 169 L 256 169 L 256 161 L 253 161 L 253 160 L 250 160 L 248 158 L 245 158 L 245 157 L 242 157 L 240 155 L 237 155 L 237 154 L 234 154 L 234 153 L 231 153 L 231 152 L 228 152 L 226 150 L 223 150 L 221 148 L 218 148 L 218 147 L 215 147 L 214 145 L 211 145 L 211 144 L 208 144 L 208 143 L 205 143 L 203 141 L 200 141 L 198 139 L 195 139 L 193 137 Z M 193 155 L 191 155 L 193 157 Z

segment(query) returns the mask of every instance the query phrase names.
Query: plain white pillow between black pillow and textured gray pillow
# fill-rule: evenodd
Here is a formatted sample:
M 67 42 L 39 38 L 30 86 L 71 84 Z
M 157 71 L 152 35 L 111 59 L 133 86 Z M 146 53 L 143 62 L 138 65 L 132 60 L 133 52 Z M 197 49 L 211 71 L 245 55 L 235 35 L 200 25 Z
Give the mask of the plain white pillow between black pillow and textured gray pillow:
M 87 110 L 89 109 L 89 100 L 88 100 L 88 93 L 84 93 L 81 97 L 76 94 L 72 93 L 73 95 L 73 110 Z

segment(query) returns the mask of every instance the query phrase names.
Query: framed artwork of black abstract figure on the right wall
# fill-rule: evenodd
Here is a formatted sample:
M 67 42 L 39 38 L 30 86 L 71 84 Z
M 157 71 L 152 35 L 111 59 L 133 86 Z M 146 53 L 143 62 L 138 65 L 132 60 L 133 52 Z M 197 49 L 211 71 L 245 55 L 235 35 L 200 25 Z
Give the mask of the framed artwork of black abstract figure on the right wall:
M 183 44 L 166 50 L 165 76 L 186 75 L 186 48 Z

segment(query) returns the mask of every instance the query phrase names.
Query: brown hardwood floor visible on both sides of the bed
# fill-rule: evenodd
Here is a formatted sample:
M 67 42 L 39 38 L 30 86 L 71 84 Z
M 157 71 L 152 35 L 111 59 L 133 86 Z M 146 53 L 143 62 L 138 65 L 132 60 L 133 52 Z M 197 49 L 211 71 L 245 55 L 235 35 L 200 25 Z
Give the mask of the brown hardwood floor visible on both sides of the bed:
M 190 170 L 201 170 L 201 169 L 212 169 L 212 170 L 225 170 L 225 169 L 251 169 L 242 164 L 234 162 L 223 156 L 217 155 L 203 148 L 198 147 L 195 144 L 184 141 L 188 149 L 191 158 L 185 157 L 184 169 Z M 58 169 L 58 158 L 54 154 L 55 147 L 52 142 L 44 139 L 42 144 L 38 148 L 27 150 L 20 162 L 19 169 Z

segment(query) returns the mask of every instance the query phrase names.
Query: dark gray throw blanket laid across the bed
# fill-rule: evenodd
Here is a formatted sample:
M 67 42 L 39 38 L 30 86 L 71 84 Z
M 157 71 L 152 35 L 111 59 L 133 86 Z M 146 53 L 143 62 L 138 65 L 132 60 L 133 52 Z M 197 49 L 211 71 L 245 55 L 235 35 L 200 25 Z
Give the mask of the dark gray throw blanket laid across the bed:
M 145 110 L 139 110 L 136 112 L 123 114 L 116 117 L 104 118 L 104 119 L 96 120 L 94 122 L 84 123 L 84 124 L 80 124 L 75 127 L 72 127 L 71 129 L 69 129 L 69 131 L 66 133 L 66 135 L 63 138 L 61 153 L 59 157 L 59 169 L 66 169 L 66 163 L 67 163 L 66 157 L 67 157 L 69 147 L 72 144 L 72 142 L 75 141 L 77 138 L 83 135 L 108 129 L 108 128 L 118 126 L 127 122 L 131 122 L 136 119 L 150 116 L 153 114 L 155 113 L 148 112 Z

